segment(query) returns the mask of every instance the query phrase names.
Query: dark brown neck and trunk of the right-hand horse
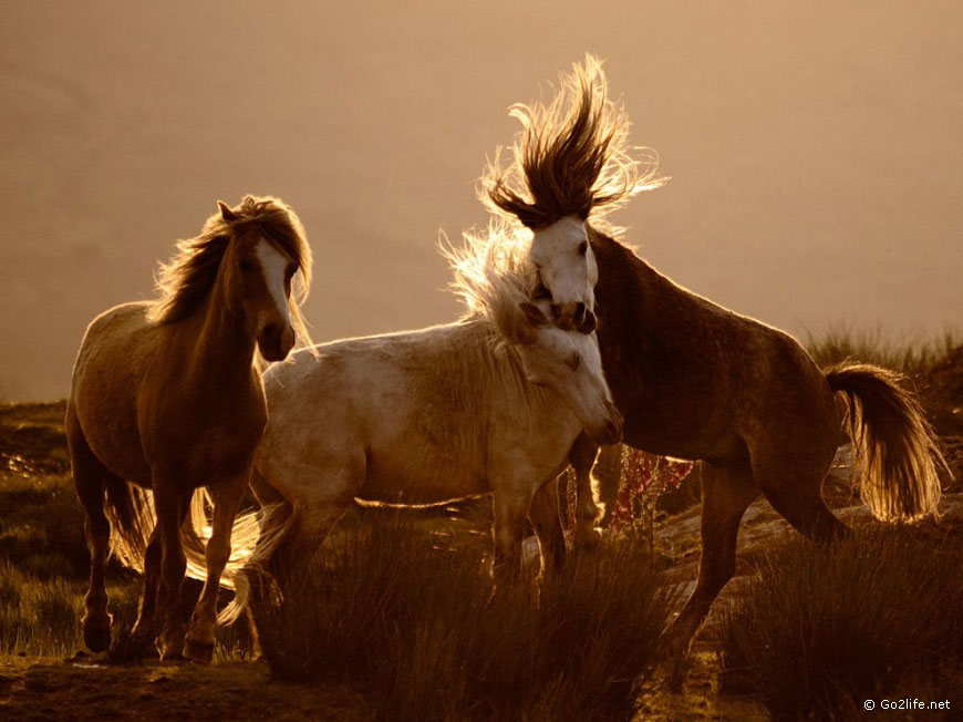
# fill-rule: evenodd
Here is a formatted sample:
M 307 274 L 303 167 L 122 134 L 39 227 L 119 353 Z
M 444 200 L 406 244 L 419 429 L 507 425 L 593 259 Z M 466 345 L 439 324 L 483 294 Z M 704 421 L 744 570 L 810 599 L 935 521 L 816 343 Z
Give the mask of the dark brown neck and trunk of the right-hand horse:
M 821 371 L 793 337 L 674 283 L 611 238 L 592 240 L 599 343 L 625 443 L 726 458 L 787 413 L 836 421 Z

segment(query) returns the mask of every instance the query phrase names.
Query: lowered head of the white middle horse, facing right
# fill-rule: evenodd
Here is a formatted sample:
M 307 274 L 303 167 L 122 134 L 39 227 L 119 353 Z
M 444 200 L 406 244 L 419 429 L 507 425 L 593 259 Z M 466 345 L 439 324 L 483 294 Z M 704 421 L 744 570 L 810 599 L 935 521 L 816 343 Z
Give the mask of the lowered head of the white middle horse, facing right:
M 565 331 L 545 312 L 547 302 L 522 302 L 525 332 L 515 348 L 526 378 L 560 394 L 598 444 L 622 439 L 622 416 L 602 373 L 599 341 L 594 333 Z

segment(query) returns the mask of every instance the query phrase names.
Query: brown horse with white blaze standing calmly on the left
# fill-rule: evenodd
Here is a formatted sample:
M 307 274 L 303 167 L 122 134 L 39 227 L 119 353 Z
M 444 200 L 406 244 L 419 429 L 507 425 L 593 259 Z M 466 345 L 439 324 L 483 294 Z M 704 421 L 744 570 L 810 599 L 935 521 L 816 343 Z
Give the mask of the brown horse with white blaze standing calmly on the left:
M 267 421 L 255 347 L 266 360 L 279 361 L 296 331 L 304 332 L 291 282 L 300 270 L 303 299 L 311 252 L 293 210 L 252 196 L 234 209 L 218 206 L 203 233 L 178 244 L 179 254 L 162 267 L 161 299 L 105 311 L 87 328 L 77 353 L 66 434 L 86 514 L 91 580 L 83 628 L 92 651 L 111 642 L 104 566 L 113 526 L 113 550 L 128 564 L 143 559 L 134 649 L 157 636 L 159 601 L 162 658 L 183 651 L 210 660 L 231 525 Z M 214 501 L 213 536 L 187 630 L 180 529 L 203 486 Z M 153 492 L 154 513 L 145 489 Z

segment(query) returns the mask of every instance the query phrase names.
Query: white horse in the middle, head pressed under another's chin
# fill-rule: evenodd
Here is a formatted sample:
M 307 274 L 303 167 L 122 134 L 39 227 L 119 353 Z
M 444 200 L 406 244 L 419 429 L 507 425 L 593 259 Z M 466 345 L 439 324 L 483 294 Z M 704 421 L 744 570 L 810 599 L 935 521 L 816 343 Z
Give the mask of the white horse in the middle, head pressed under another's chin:
M 281 503 L 249 564 L 265 565 L 286 538 L 315 550 L 355 497 L 425 505 L 490 493 L 498 581 L 519 569 L 532 498 L 579 434 L 621 437 L 596 334 L 561 330 L 528 301 L 527 244 L 494 224 L 447 255 L 468 307 L 462 320 L 304 349 L 266 373 L 253 486 Z M 559 548 L 546 538 L 561 534 L 558 524 L 536 533 Z M 239 566 L 227 573 L 240 588 L 225 619 L 244 605 Z

